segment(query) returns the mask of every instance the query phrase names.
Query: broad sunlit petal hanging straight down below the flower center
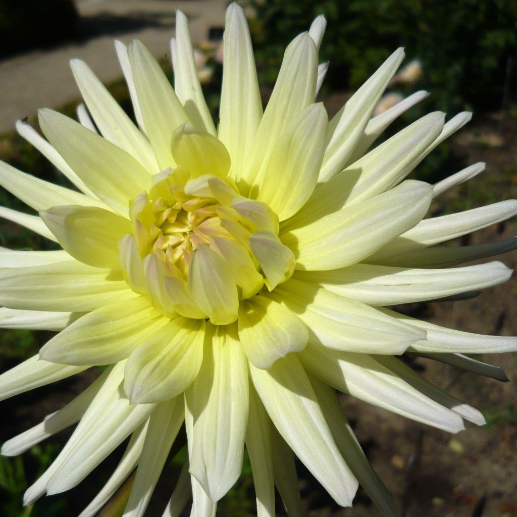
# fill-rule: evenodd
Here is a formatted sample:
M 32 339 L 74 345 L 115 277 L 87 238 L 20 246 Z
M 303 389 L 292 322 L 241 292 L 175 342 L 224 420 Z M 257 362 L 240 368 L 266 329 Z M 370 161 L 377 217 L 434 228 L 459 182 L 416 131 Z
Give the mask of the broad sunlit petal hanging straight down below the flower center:
M 248 372 L 235 327 L 207 325 L 212 340 L 185 392 L 190 473 L 212 501 L 230 490 L 242 469 Z

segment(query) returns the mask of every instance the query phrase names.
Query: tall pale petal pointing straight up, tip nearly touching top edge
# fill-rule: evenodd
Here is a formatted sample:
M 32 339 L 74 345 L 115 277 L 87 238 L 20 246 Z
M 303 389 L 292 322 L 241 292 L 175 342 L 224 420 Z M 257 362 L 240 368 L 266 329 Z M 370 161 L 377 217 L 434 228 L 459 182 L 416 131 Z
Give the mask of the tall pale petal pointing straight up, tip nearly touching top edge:
M 218 136 L 232 159 L 230 176 L 246 175 L 247 157 L 262 118 L 255 59 L 244 11 L 236 3 L 226 10 L 224 65 Z

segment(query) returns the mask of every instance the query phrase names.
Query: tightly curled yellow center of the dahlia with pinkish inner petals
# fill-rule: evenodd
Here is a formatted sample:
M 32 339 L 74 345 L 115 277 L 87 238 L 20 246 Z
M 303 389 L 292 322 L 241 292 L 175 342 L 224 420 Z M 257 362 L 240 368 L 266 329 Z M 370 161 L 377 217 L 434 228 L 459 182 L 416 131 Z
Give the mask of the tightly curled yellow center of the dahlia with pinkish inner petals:
M 240 300 L 293 273 L 276 214 L 241 196 L 229 178 L 164 171 L 129 214 L 134 232 L 119 244 L 126 281 L 170 317 L 232 323 Z

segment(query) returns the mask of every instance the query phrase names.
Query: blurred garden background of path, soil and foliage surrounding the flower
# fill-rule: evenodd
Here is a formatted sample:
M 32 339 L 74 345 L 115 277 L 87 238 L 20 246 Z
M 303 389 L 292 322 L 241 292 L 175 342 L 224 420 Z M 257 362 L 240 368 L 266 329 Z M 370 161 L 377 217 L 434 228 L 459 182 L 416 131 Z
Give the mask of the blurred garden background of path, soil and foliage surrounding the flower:
M 453 189 L 432 206 L 430 215 L 474 208 L 517 195 L 517 2 L 515 0 L 263 0 L 240 2 L 250 30 L 266 102 L 286 44 L 308 29 L 318 14 L 327 19 L 320 60 L 330 66 L 320 98 L 330 115 L 397 47 L 406 49 L 400 72 L 379 102 L 382 113 L 410 93 L 431 95 L 394 123 L 386 138 L 424 113 L 440 110 L 447 119 L 463 110 L 473 121 L 441 144 L 413 173 L 435 183 L 465 166 L 488 163 L 477 178 Z M 0 2 L 0 159 L 38 177 L 66 185 L 52 166 L 14 131 L 17 119 L 37 126 L 37 109 L 49 107 L 75 117 L 80 102 L 68 67 L 81 58 L 108 84 L 132 116 L 129 95 L 113 39 L 144 41 L 172 80 L 169 41 L 176 9 L 187 14 L 200 80 L 217 119 L 222 71 L 225 0 L 2 0 Z M 68 185 L 69 186 L 69 185 Z M 6 191 L 0 205 L 29 211 Z M 462 238 L 480 244 L 517 235 L 508 221 Z M 0 244 L 12 249 L 52 249 L 52 243 L 0 222 Z M 499 258 L 499 257 L 498 257 Z M 516 253 L 499 260 L 515 268 Z M 517 335 L 517 283 L 461 302 L 398 307 L 445 326 L 484 334 Z M 0 371 L 36 354 L 51 332 L 4 330 Z M 517 354 L 485 355 L 504 367 L 509 383 L 466 373 L 442 363 L 408 359 L 434 384 L 479 408 L 488 425 L 451 436 L 351 398 L 342 398 L 374 468 L 396 497 L 401 514 L 415 516 L 517 517 Z M 96 369 L 2 403 L 0 442 L 31 427 L 62 407 L 98 375 Z M 0 458 L 0 515 L 61 517 L 78 514 L 98 492 L 118 462 L 117 450 L 80 486 L 22 508 L 26 487 L 41 475 L 65 442 L 65 431 L 23 457 Z M 185 451 L 174 451 L 147 515 L 161 515 Z M 354 508 L 341 509 L 298 464 L 300 490 L 312 517 L 379 515 L 361 490 Z M 248 516 L 255 508 L 250 467 L 222 500 L 218 515 Z M 281 503 L 278 515 L 283 515 Z M 111 515 L 111 514 L 110 514 Z M 186 513 L 188 515 L 188 512 Z

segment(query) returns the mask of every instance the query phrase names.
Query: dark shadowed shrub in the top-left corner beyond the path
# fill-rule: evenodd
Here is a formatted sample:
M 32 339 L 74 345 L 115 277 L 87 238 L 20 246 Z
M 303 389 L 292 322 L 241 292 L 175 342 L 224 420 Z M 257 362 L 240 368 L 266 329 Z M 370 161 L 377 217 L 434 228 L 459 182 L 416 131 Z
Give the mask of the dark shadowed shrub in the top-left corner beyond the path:
M 2 0 L 0 57 L 65 41 L 77 20 L 73 0 Z

